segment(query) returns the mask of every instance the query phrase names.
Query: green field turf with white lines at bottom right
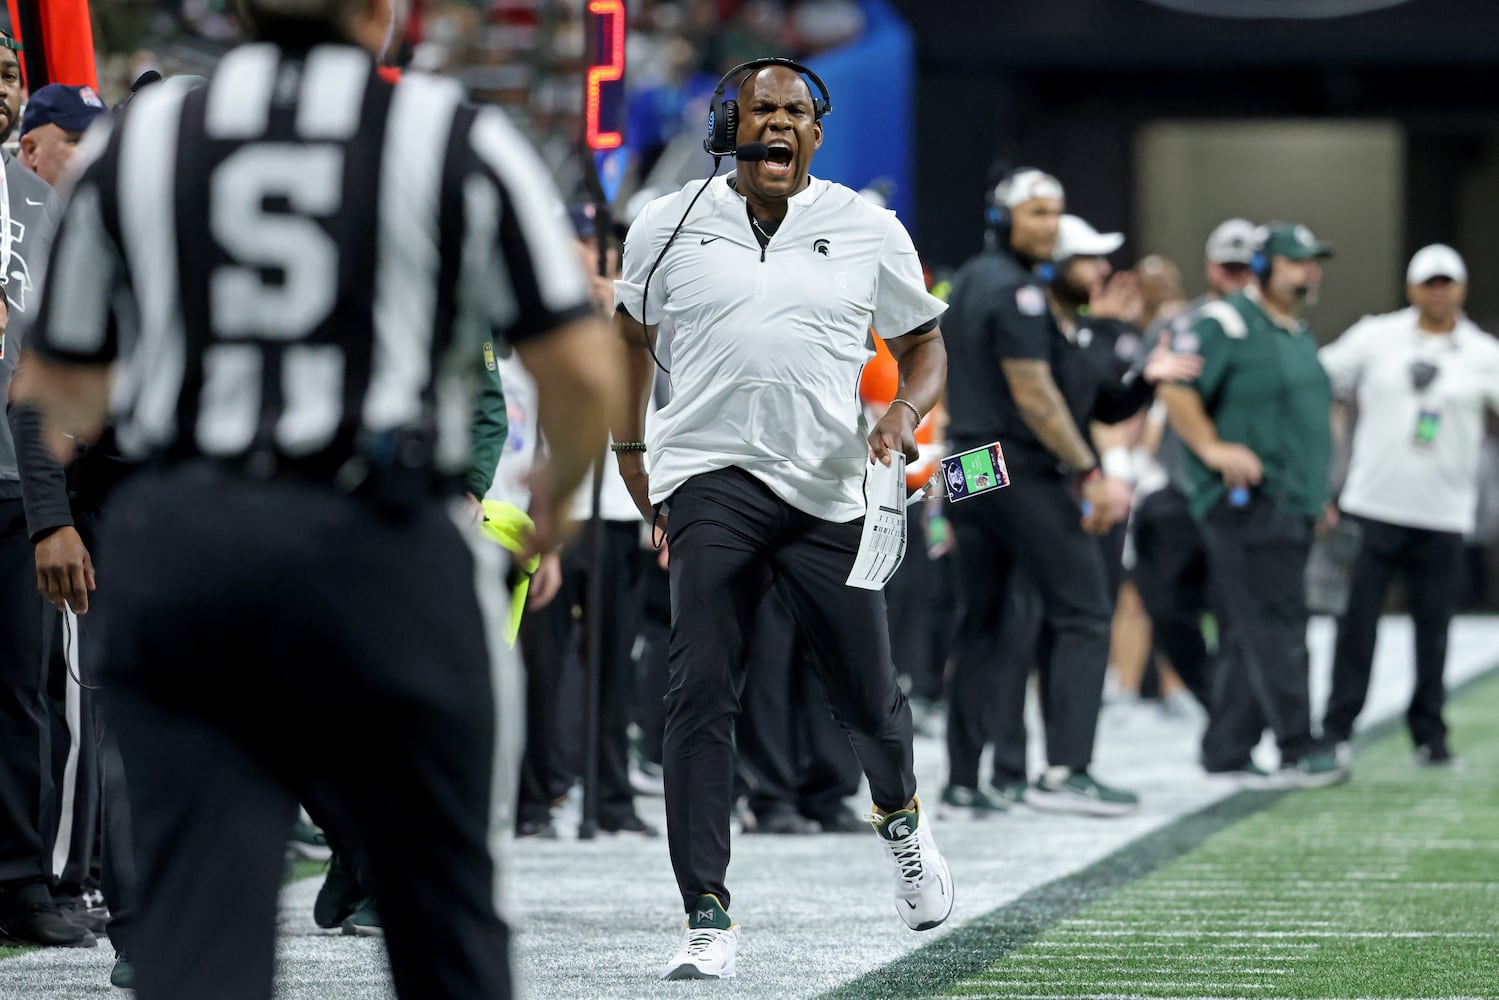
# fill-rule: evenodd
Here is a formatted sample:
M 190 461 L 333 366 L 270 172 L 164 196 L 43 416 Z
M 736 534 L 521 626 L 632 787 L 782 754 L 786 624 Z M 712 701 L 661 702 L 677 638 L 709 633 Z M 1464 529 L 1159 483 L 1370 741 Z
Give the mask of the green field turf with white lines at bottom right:
M 1499 681 L 1450 723 L 1462 769 L 1420 769 L 1393 735 L 1352 783 L 1286 795 L 905 996 L 1499 997 Z

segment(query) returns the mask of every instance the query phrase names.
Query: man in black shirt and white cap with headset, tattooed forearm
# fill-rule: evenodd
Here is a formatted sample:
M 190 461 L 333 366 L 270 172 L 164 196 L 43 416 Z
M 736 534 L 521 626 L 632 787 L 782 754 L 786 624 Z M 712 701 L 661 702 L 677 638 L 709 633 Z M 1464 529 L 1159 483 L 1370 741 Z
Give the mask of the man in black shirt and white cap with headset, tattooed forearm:
M 1049 309 L 1037 267 L 1055 252 L 1063 189 L 1039 169 L 1004 174 L 989 193 L 985 250 L 953 279 L 949 319 L 947 436 L 952 451 L 998 441 L 1010 486 L 950 508 L 956 535 L 959 625 L 947 724 L 944 802 L 998 808 L 977 789 L 992 706 L 1024 697 L 1036 651 L 1004 648 L 1001 622 L 1012 574 L 1040 597 L 1048 769 L 1024 792 L 1034 808 L 1118 816 L 1138 798 L 1088 774 L 1108 666 L 1109 598 L 1090 535 L 1114 520 L 1109 483 L 1081 429 L 1115 423 L 1177 378 L 1190 358 L 1154 355 L 1144 378 L 1108 378 Z M 1015 643 L 1024 646 L 1025 643 Z M 1025 775 L 995 775 L 1012 786 Z M 1013 796 L 1009 796 L 1013 798 Z

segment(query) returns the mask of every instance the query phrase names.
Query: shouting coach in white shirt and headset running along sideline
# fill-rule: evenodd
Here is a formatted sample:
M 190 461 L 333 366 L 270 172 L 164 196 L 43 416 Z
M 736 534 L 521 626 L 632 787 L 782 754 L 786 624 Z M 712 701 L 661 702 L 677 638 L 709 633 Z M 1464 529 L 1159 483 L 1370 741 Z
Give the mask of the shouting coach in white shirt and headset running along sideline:
M 615 286 L 634 403 L 615 429 L 619 471 L 648 519 L 670 504 L 666 820 L 688 927 L 667 979 L 735 975 L 726 873 L 736 690 L 772 580 L 869 778 L 896 910 L 914 930 L 952 912 L 952 877 L 914 798 L 911 709 L 895 682 L 884 595 L 844 583 L 871 457 L 916 459 L 916 426 L 941 394 L 946 306 L 926 292 L 895 213 L 808 174 L 827 97 L 814 99 L 802 69 L 755 60 L 724 76 L 720 93 L 738 90 L 736 141 L 764 142 L 769 159 L 714 178 L 696 205 L 700 183 L 646 205 Z M 672 402 L 652 418 L 646 453 L 655 322 L 642 319 L 661 316 L 673 322 Z M 871 324 L 902 385 L 874 429 L 857 396 Z

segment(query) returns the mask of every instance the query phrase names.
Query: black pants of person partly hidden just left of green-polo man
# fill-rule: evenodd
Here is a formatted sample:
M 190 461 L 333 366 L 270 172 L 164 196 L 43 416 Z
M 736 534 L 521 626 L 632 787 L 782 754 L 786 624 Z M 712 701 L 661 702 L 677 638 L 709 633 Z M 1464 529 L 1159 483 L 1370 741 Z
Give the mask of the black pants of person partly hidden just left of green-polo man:
M 1135 586 L 1150 615 L 1154 646 L 1204 708 L 1211 705 L 1202 615 L 1208 610 L 1208 553 L 1187 498 L 1168 486 L 1135 511 Z

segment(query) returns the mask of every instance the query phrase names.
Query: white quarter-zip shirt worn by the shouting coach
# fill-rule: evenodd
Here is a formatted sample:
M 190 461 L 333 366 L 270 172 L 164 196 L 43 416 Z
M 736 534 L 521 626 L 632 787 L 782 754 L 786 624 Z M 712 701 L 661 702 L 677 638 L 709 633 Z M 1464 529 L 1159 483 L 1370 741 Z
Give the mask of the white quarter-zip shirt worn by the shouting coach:
M 935 319 L 920 261 L 895 213 L 812 178 L 760 247 L 745 199 L 717 177 L 651 279 L 646 274 L 702 186 L 652 201 L 625 241 L 615 301 L 634 319 L 673 322 L 672 402 L 646 432 L 651 501 L 688 478 L 738 466 L 815 517 L 863 514 L 859 373 L 872 325 L 893 339 Z

